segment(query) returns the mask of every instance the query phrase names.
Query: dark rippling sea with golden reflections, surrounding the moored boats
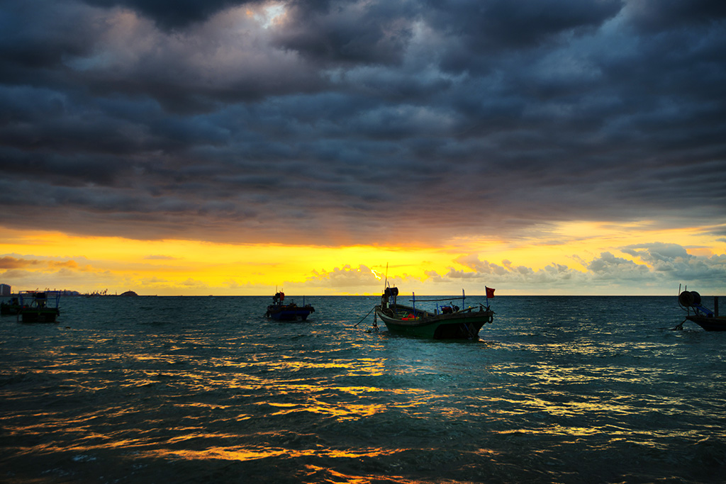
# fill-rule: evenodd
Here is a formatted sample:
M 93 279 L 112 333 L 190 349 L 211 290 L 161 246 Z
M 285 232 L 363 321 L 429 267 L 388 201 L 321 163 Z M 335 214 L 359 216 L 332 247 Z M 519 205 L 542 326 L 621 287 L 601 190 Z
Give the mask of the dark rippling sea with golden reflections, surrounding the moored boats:
M 671 331 L 677 298 L 497 296 L 463 342 L 354 328 L 378 299 L 307 298 L 305 323 L 264 319 L 270 298 L 4 316 L 0 481 L 726 480 L 726 332 Z

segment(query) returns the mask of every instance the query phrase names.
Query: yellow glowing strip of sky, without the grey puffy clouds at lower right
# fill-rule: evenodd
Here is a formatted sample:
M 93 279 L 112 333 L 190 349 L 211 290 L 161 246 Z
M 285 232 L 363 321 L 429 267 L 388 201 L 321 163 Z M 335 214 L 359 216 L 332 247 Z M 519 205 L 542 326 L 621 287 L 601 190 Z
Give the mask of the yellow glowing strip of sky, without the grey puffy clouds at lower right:
M 134 290 L 143 295 L 269 295 L 277 287 L 298 295 L 378 295 L 386 264 L 389 281 L 404 281 L 408 290 L 419 293 L 439 292 L 444 285 L 437 276 L 452 268 L 465 276 L 494 266 L 498 276 L 492 274 L 492 284 L 499 280 L 500 294 L 534 293 L 536 286 L 532 289 L 526 279 L 513 275 L 543 271 L 552 264 L 586 273 L 589 261 L 604 252 L 643 265 L 619 247 L 654 241 L 681 245 L 702 258 L 724 251 L 724 243 L 703 229 L 656 229 L 648 223 L 563 223 L 527 238 L 453 238 L 444 247 L 221 244 L 12 229 L 0 229 L 0 236 L 0 282 L 13 290 Z M 490 268 L 481 268 L 485 261 Z M 502 279 L 505 272 L 510 279 Z M 435 279 L 439 286 L 432 285 Z M 505 280 L 512 287 L 502 287 Z M 452 279 L 454 283 L 462 286 L 466 280 Z M 574 285 L 568 293 L 576 289 Z

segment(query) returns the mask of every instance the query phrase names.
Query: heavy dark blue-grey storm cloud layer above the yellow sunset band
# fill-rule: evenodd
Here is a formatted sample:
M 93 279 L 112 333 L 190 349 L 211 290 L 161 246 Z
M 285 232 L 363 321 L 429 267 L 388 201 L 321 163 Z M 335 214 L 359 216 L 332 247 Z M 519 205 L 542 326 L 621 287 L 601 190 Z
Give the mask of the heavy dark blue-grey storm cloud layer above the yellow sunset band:
M 2 4 L 4 224 L 335 244 L 724 223 L 720 3 L 170 5 Z

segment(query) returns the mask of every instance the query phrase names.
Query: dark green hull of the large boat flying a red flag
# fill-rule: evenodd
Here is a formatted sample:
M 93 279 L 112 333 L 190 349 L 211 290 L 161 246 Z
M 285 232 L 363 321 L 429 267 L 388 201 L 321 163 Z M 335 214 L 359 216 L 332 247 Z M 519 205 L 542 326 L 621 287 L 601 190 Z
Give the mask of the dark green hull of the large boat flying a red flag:
M 434 340 L 476 340 L 481 327 L 494 319 L 494 311 L 490 309 L 432 314 L 401 305 L 392 305 L 389 308 L 378 305 L 375 307 L 375 314 L 391 333 Z M 416 319 L 406 319 L 409 314 L 419 316 Z

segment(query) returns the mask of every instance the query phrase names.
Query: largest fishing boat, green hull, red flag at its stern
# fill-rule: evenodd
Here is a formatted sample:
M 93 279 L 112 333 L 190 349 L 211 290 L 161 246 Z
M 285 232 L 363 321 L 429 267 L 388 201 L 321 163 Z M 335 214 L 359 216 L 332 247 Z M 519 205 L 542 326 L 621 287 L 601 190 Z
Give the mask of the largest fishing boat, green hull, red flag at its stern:
M 389 332 L 399 335 L 428 337 L 436 340 L 476 340 L 481 327 L 494 320 L 494 311 L 489 308 L 489 305 L 480 304 L 478 308 L 460 309 L 451 303 L 431 312 L 416 308 L 415 295 L 411 300 L 412 306 L 397 303 L 398 295 L 398 288 L 386 287 L 380 298 L 380 305 L 375 306 L 374 318 L 380 318 L 386 324 Z M 487 298 L 490 297 L 494 297 L 494 290 L 487 288 Z M 465 300 L 465 298 L 462 291 L 461 299 Z M 418 302 L 452 299 L 454 298 L 419 300 Z M 374 326 L 377 327 L 375 322 Z

